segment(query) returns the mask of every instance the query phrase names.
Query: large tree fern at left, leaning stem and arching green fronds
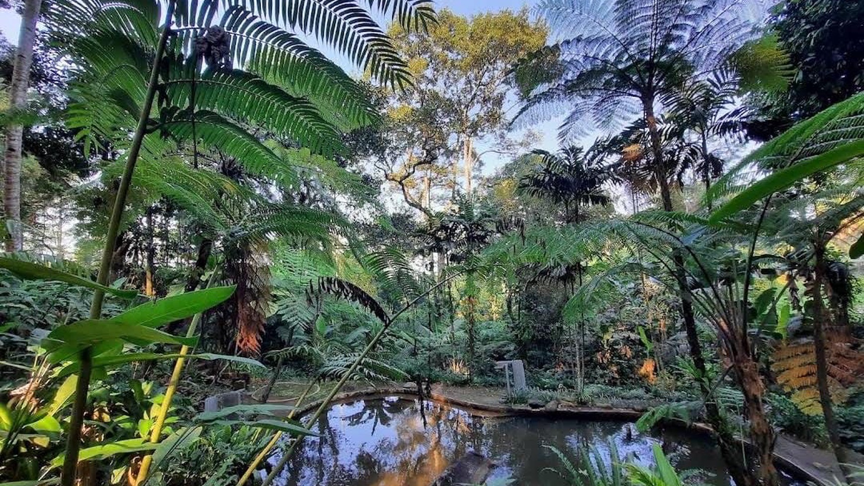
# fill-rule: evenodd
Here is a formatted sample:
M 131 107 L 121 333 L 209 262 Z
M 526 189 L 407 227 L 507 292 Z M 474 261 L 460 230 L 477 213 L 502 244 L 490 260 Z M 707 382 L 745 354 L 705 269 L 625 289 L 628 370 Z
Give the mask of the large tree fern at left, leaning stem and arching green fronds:
M 70 105 L 67 123 L 79 130 L 88 148 L 100 139 L 111 140 L 126 158 L 99 267 L 100 284 L 108 281 L 137 162 L 165 154 L 160 136 L 190 141 L 193 157 L 200 144 L 277 179 L 281 158 L 251 129 L 276 142 L 329 155 L 344 150 L 340 130 L 377 121 L 358 85 L 292 32 L 314 35 L 384 83 L 406 85 L 407 66 L 372 15 L 378 12 L 405 28 L 421 28 L 433 18 L 432 10 L 426 2 L 373 1 L 368 6 L 323 0 L 60 0 L 54 5 L 48 26 L 79 66 L 76 103 Z M 92 319 L 101 316 L 103 300 L 104 293 L 94 294 Z M 92 350 L 86 348 L 81 352 L 63 486 L 75 481 L 91 373 Z

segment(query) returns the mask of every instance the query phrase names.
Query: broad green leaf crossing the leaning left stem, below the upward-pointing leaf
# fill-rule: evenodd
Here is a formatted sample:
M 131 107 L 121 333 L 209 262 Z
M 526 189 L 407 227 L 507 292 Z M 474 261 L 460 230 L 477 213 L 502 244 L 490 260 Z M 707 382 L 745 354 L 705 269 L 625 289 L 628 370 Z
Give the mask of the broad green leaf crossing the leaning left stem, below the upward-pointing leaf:
M 194 346 L 198 342 L 198 338 L 180 338 L 143 325 L 118 324 L 106 319 L 85 319 L 70 325 L 61 325 L 49 332 L 48 338 L 66 344 L 89 346 L 118 338 L 137 343 L 144 341 L 148 344 L 185 344 L 187 346 Z

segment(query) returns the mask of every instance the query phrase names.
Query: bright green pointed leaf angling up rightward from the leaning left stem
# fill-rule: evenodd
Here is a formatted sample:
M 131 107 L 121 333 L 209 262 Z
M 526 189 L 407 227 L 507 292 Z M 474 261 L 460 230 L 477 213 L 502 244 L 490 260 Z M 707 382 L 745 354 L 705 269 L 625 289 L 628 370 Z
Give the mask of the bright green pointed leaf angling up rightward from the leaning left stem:
M 234 288 L 213 287 L 195 292 L 181 293 L 165 299 L 152 300 L 112 317 L 112 322 L 159 327 L 218 305 L 231 297 Z

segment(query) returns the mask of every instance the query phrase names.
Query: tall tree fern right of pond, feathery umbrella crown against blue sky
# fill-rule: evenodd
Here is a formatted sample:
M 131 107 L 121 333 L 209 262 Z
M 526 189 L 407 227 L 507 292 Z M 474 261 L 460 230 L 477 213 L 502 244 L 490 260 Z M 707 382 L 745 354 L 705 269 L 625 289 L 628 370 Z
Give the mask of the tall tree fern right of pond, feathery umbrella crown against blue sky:
M 566 113 L 560 136 L 567 139 L 588 127 L 610 129 L 641 116 L 663 208 L 672 211 L 669 170 L 658 128 L 660 102 L 683 85 L 734 68 L 733 54 L 753 36 L 745 4 L 741 0 L 544 0 L 538 9 L 559 41 L 518 67 L 517 78 L 528 81 L 523 92 L 531 94 L 517 122 Z M 537 74 L 543 70 L 550 74 Z M 683 256 L 675 252 L 690 354 L 705 376 Z M 710 394 L 704 383 L 702 394 Z M 716 431 L 726 430 L 713 403 L 708 404 L 708 420 Z M 732 438 L 721 438 L 720 443 L 735 482 L 753 484 L 736 460 Z

